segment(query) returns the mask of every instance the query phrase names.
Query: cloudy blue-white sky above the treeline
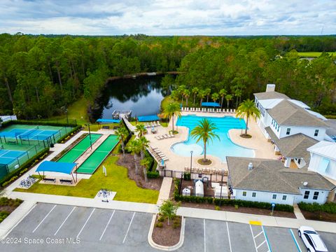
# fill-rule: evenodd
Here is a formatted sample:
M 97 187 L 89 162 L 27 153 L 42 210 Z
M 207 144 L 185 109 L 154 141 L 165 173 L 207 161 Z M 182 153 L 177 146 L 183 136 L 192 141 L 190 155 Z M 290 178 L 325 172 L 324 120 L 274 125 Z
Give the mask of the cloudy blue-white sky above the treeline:
M 0 0 L 0 33 L 336 34 L 336 0 Z

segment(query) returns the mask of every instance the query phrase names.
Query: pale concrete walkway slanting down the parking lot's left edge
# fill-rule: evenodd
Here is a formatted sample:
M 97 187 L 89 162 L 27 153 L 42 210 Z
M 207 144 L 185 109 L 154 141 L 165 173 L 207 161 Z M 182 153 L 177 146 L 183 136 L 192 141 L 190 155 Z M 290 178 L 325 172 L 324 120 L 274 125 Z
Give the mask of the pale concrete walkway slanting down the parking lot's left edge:
M 31 210 L 36 207 L 36 202 L 22 202 L 20 206 L 15 209 L 6 219 L 0 223 L 0 238 L 6 238 L 6 236 L 15 228 L 23 218 L 25 218 Z

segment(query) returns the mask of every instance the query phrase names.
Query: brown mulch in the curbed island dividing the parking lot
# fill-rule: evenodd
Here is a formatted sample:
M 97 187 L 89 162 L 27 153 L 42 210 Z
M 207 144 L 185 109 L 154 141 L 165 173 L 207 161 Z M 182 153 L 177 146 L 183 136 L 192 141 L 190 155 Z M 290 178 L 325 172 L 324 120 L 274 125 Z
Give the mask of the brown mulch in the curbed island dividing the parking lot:
M 179 243 L 181 235 L 181 216 L 176 216 L 176 220 L 179 221 L 179 227 L 174 228 L 173 221 L 170 221 L 168 225 L 167 220 L 162 222 L 162 228 L 154 226 L 152 239 L 155 244 L 161 246 L 174 246 Z M 155 223 L 158 223 L 158 216 Z

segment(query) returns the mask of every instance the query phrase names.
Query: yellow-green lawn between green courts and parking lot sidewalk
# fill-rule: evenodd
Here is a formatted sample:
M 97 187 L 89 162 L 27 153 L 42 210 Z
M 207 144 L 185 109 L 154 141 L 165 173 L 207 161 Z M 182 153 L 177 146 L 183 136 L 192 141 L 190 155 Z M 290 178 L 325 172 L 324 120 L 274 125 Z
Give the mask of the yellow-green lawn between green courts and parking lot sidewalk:
M 118 157 L 109 156 L 103 162 L 107 170 L 106 177 L 102 172 L 101 165 L 90 179 L 83 179 L 74 187 L 35 183 L 29 189 L 17 188 L 15 191 L 93 198 L 100 189 L 106 188 L 117 192 L 114 200 L 156 204 L 159 191 L 139 188 L 135 181 L 128 179 L 127 168 L 116 165 L 117 160 Z

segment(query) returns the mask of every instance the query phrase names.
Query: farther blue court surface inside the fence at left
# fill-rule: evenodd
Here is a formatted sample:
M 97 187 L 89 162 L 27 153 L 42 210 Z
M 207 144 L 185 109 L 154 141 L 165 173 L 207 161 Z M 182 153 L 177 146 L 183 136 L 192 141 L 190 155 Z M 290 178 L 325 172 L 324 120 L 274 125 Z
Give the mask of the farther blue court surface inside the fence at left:
M 32 139 L 32 140 L 45 140 L 52 137 L 55 134 L 59 134 L 57 130 L 26 130 L 26 129 L 13 129 L 8 132 L 0 132 L 0 137 L 6 138 L 20 138 L 20 139 Z

